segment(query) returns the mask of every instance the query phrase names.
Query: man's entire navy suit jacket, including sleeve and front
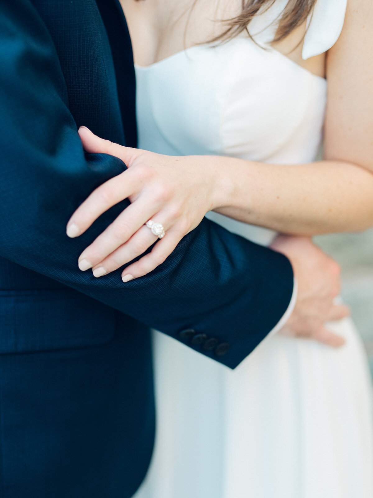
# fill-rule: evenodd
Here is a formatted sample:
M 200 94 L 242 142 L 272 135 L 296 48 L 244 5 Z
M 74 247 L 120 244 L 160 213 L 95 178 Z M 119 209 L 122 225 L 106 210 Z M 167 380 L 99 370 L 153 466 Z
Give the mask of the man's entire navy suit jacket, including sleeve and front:
M 126 168 L 84 153 L 83 124 L 136 146 L 118 1 L 0 0 L 2 498 L 130 497 L 154 437 L 149 327 L 235 368 L 292 294 L 284 256 L 206 219 L 142 278 L 79 271 L 127 205 L 67 238 L 77 206 Z

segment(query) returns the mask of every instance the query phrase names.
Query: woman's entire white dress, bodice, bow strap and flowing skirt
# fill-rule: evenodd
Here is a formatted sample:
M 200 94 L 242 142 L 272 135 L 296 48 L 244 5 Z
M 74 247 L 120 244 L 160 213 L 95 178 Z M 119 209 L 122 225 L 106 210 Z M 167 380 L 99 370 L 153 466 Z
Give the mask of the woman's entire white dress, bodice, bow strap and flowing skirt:
M 258 43 L 283 8 L 254 19 Z M 318 0 L 303 58 L 325 52 L 346 0 Z M 195 46 L 136 66 L 139 147 L 171 155 L 219 154 L 304 163 L 319 148 L 327 83 L 246 36 Z M 209 218 L 260 244 L 274 232 Z M 167 313 L 167 309 L 165 309 Z M 154 333 L 157 436 L 136 498 L 372 498 L 371 381 L 350 319 L 346 338 L 265 339 L 234 371 Z

